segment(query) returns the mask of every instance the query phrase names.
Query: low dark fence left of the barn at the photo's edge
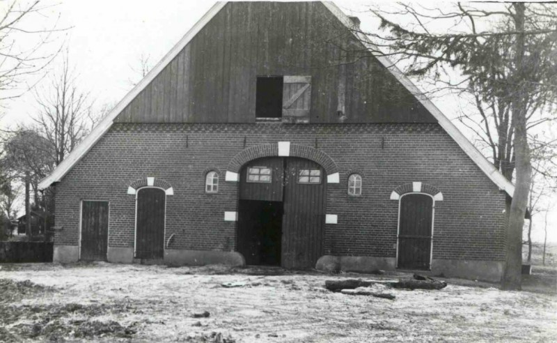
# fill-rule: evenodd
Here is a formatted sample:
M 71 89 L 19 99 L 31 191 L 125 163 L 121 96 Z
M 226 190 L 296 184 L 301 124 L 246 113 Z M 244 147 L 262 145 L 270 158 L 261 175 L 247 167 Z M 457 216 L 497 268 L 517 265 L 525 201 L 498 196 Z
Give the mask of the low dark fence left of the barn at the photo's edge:
M 0 263 L 52 262 L 52 242 L 0 242 Z

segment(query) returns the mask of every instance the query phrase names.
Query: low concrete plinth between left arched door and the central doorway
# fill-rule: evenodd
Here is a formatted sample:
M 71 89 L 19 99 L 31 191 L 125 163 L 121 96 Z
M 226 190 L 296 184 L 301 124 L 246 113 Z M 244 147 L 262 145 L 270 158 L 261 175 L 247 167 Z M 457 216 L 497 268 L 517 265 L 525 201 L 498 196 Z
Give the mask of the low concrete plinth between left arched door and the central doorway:
M 205 264 L 244 266 L 246 261 L 240 252 L 166 249 L 164 250 L 164 263 L 169 266 L 203 266 Z

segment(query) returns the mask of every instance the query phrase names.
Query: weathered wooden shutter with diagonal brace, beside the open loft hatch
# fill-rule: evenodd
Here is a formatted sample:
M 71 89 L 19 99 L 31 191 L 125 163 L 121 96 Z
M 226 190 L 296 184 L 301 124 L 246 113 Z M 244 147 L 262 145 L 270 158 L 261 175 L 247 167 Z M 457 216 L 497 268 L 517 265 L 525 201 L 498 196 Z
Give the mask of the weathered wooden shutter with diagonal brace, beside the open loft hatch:
M 311 76 L 285 76 L 283 82 L 283 122 L 309 123 Z

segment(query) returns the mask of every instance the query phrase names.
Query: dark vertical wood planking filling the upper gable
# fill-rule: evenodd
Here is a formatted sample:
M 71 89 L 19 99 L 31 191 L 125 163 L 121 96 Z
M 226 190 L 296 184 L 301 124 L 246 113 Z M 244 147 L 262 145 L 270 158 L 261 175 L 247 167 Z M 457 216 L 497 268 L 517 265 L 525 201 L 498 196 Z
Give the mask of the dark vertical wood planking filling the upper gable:
M 153 79 L 150 109 L 134 102 L 115 121 L 253 123 L 257 75 L 311 75 L 310 123 L 338 123 L 334 57 L 350 36 L 320 2 L 228 3 Z M 345 68 L 348 122 L 436 122 L 374 57 Z

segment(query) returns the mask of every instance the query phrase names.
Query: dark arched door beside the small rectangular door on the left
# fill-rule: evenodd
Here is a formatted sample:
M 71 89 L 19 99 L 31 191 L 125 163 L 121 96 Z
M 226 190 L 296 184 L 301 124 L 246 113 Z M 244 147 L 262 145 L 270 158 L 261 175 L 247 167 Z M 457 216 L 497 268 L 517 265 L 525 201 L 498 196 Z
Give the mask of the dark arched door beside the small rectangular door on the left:
M 138 259 L 164 257 L 164 201 L 159 188 L 141 188 L 137 192 L 136 250 Z

